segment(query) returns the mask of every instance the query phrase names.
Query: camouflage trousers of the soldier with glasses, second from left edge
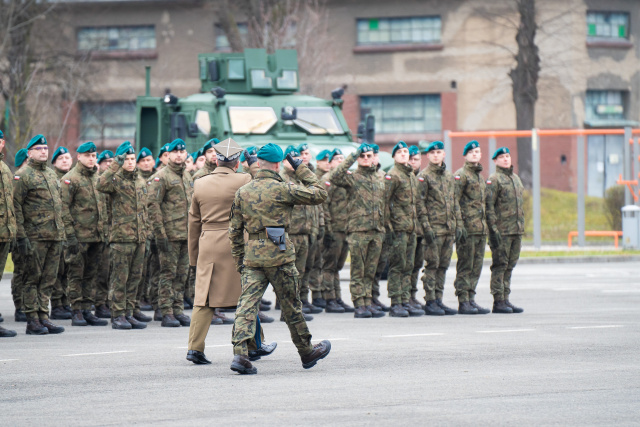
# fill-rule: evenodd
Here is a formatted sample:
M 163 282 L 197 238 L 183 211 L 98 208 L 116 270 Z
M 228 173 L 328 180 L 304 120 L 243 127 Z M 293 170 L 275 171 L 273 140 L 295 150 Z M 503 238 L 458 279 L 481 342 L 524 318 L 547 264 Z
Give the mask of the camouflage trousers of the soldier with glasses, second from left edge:
M 31 242 L 33 252 L 25 260 L 23 304 L 27 317 L 49 318 L 49 300 L 56 283 L 62 243 Z

